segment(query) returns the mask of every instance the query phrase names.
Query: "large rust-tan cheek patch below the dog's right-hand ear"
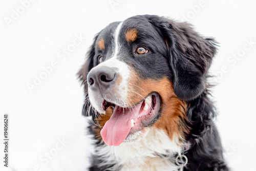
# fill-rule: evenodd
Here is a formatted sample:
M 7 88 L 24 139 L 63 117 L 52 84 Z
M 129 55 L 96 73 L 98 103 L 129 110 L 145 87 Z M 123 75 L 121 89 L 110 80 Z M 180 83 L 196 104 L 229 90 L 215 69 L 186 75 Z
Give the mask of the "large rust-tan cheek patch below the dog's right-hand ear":
M 186 124 L 187 103 L 175 95 L 172 82 L 168 78 L 141 80 L 136 74 L 132 75 L 130 82 L 136 86 L 132 86 L 132 89 L 129 90 L 129 103 L 136 104 L 143 99 L 142 97 L 157 92 L 162 99 L 161 117 L 154 126 L 165 130 L 170 139 L 178 137 L 182 141 L 185 134 L 189 133 L 189 127 Z

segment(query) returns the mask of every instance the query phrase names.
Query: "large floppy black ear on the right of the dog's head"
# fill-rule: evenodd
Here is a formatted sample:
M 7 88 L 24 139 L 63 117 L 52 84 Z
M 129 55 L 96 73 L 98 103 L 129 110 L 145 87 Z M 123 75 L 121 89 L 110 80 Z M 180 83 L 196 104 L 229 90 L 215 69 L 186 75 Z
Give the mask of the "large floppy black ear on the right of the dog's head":
M 217 49 L 213 38 L 204 38 L 187 23 L 167 20 L 166 40 L 175 94 L 183 100 L 197 98 L 205 90 L 205 81 Z

